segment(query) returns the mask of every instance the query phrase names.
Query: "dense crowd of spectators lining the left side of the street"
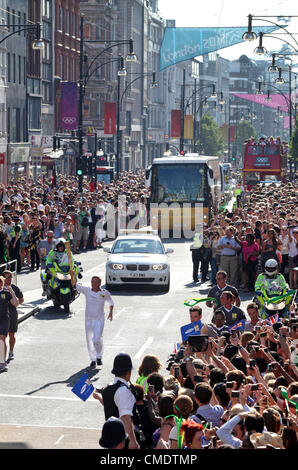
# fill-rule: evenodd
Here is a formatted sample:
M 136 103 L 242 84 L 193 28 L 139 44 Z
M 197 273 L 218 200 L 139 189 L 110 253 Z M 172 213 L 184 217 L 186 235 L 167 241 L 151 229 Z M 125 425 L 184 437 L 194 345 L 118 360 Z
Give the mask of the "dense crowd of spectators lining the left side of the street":
M 146 197 L 142 170 L 123 172 L 110 184 L 99 182 L 93 192 L 84 181 L 82 194 L 75 177 L 60 176 L 56 185 L 25 178 L 0 185 L 0 265 L 16 260 L 11 269 L 18 273 L 39 269 L 40 242 L 48 232 L 55 240 L 69 240 L 75 253 L 101 247 L 103 239 L 117 235 L 122 214 L 125 223 L 138 204 L 146 207 Z M 142 217 L 146 221 L 146 211 Z

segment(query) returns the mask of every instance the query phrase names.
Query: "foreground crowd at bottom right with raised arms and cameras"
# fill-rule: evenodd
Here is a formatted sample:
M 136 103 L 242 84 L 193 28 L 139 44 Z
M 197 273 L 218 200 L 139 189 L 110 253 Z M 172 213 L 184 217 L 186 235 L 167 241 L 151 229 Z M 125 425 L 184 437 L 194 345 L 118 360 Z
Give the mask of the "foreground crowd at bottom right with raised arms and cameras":
M 191 321 L 202 318 L 198 306 L 189 313 Z M 244 332 L 222 326 L 201 347 L 181 343 L 169 355 L 166 373 L 156 355 L 142 359 L 139 377 L 130 385 L 139 448 L 297 449 L 297 305 L 290 319 L 271 326 L 259 319 L 256 304 L 250 303 L 247 313 Z M 125 374 L 114 371 L 114 384 L 120 380 L 128 386 L 129 364 Z M 94 398 L 105 406 L 98 392 Z M 124 409 L 129 415 L 127 403 Z M 125 435 L 117 448 L 130 447 Z M 103 447 L 113 448 L 109 442 Z

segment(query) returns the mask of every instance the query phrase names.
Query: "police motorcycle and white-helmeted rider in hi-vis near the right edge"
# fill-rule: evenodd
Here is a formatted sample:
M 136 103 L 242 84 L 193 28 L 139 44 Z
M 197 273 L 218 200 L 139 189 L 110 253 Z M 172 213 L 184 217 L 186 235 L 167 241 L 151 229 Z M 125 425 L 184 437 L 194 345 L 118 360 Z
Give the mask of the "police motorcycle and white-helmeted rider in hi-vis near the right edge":
M 277 261 L 269 259 L 255 282 L 255 294 L 253 301 L 259 306 L 262 319 L 276 314 L 282 318 L 288 316 L 296 290 L 289 290 L 284 276 L 278 273 Z

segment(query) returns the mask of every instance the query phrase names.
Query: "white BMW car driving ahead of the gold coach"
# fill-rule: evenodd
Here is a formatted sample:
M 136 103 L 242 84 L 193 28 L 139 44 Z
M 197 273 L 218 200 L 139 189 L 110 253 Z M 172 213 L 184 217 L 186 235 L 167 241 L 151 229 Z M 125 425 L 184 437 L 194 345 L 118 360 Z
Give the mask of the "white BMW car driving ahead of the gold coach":
M 170 265 L 165 249 L 158 235 L 134 232 L 120 235 L 109 253 L 106 262 L 106 288 L 122 284 L 142 284 L 170 289 Z

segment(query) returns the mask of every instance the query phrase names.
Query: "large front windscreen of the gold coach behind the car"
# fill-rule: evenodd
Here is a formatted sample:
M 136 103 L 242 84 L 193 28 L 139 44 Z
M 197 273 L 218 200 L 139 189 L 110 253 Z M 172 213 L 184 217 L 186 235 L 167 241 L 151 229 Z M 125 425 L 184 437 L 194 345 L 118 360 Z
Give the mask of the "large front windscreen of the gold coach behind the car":
M 152 167 L 151 202 L 204 202 L 204 163 Z

